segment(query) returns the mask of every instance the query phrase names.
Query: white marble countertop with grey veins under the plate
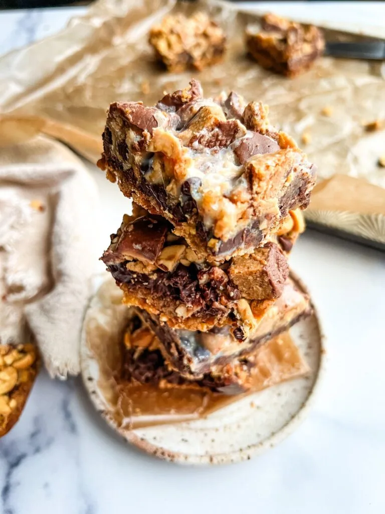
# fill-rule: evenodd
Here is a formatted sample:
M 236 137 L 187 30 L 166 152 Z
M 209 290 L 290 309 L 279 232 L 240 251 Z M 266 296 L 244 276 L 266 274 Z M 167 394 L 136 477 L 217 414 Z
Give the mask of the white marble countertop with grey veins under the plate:
M 303 17 L 312 11 L 325 18 L 332 9 L 341 22 L 345 15 L 376 26 L 385 20 L 380 3 L 282 4 L 275 10 Z M 0 53 L 83 11 L 0 12 Z M 126 200 L 92 173 L 105 213 L 102 249 Z M 241 464 L 179 468 L 121 442 L 80 379 L 51 381 L 42 373 L 20 422 L 0 440 L 0 513 L 385 512 L 385 254 L 308 231 L 292 264 L 319 307 L 329 355 L 314 407 L 290 438 Z

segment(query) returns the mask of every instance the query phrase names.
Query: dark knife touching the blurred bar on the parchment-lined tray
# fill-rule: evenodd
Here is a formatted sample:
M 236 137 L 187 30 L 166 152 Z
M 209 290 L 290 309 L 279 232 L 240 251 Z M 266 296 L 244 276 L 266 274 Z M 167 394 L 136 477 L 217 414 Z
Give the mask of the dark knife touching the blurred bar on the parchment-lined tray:
M 385 60 L 385 41 L 364 41 L 362 43 L 326 42 L 325 55 L 347 59 Z

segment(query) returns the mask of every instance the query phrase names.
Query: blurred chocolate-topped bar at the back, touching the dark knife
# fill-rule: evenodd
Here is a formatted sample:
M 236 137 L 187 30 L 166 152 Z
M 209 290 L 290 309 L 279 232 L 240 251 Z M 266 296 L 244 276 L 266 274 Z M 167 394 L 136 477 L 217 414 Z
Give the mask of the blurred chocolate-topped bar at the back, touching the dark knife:
M 262 67 L 294 77 L 322 55 L 325 41 L 314 25 L 301 25 L 266 14 L 262 17 L 262 31 L 247 30 L 246 46 Z

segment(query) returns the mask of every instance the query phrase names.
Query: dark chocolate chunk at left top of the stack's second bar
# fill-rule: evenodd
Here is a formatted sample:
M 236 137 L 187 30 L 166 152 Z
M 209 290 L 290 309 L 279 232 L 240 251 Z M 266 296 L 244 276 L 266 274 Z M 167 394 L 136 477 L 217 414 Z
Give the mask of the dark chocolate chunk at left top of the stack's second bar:
M 168 226 L 147 217 L 136 219 L 125 225 L 114 250 L 107 250 L 103 262 L 110 264 L 124 259 L 139 259 L 155 263 L 163 249 Z

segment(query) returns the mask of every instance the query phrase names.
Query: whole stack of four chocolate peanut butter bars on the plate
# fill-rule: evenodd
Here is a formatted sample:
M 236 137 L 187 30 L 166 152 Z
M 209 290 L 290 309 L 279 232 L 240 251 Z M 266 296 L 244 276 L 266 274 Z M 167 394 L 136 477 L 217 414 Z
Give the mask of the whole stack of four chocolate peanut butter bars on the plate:
M 316 171 L 267 114 L 196 80 L 110 105 L 98 164 L 133 207 L 102 260 L 134 306 L 129 379 L 247 391 L 261 345 L 311 313 L 287 256 Z

